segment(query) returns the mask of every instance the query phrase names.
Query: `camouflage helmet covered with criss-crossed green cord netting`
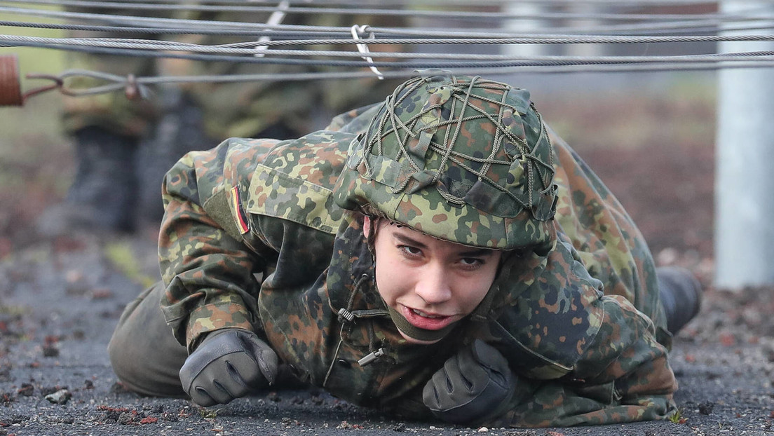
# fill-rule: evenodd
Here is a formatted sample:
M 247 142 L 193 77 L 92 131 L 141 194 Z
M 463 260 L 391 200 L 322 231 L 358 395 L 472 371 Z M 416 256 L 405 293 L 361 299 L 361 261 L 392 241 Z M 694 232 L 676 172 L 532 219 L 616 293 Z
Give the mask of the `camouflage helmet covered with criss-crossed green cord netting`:
M 436 70 L 382 103 L 334 198 L 439 239 L 544 251 L 555 238 L 553 159 L 528 91 Z

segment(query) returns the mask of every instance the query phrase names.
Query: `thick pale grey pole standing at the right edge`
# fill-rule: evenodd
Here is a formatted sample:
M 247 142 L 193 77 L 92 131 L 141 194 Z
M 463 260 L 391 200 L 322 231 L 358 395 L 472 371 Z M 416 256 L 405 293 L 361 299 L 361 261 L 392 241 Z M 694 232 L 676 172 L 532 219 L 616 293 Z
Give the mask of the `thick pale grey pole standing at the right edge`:
M 770 14 L 774 5 L 721 2 L 723 12 L 750 9 Z M 748 50 L 774 50 L 774 43 L 720 46 L 726 53 Z M 774 69 L 720 70 L 716 141 L 715 285 L 774 283 Z

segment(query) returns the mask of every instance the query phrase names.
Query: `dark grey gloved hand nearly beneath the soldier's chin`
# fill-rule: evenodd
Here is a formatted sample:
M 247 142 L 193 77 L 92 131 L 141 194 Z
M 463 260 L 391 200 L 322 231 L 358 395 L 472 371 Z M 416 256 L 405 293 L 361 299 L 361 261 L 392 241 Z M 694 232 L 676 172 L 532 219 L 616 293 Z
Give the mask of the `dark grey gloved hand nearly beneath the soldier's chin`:
M 425 385 L 422 398 L 433 415 L 454 424 L 480 422 L 502 414 L 516 388 L 508 361 L 476 339 L 444 363 Z

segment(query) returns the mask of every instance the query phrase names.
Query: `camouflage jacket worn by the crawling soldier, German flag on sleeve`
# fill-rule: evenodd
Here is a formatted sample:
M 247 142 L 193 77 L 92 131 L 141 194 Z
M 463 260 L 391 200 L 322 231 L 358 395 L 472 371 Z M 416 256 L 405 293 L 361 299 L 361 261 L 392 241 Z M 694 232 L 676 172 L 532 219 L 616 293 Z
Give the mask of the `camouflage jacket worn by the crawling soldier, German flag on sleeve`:
M 555 136 L 553 249 L 514 252 L 485 310 L 437 344 L 406 344 L 376 290 L 361 215 L 330 196 L 372 113 L 361 112 L 301 139 L 229 139 L 170 170 L 159 257 L 163 311 L 180 343 L 193 349 L 219 328 L 255 331 L 302 379 L 422 419 L 430 417 L 427 380 L 482 338 L 509 360 L 518 385 L 505 414 L 477 424 L 609 424 L 673 412 L 676 381 L 649 251 Z

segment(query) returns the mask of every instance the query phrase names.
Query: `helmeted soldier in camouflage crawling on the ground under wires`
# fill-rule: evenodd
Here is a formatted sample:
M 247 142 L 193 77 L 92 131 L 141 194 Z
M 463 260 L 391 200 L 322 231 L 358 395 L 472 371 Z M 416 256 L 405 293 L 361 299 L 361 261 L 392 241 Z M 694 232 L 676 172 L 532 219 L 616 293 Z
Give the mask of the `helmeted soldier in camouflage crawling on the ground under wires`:
M 426 71 L 327 130 L 189 153 L 163 197 L 163 283 L 109 346 L 130 390 L 212 406 L 286 368 L 404 419 L 676 410 L 670 338 L 700 287 L 656 269 L 527 91 Z

